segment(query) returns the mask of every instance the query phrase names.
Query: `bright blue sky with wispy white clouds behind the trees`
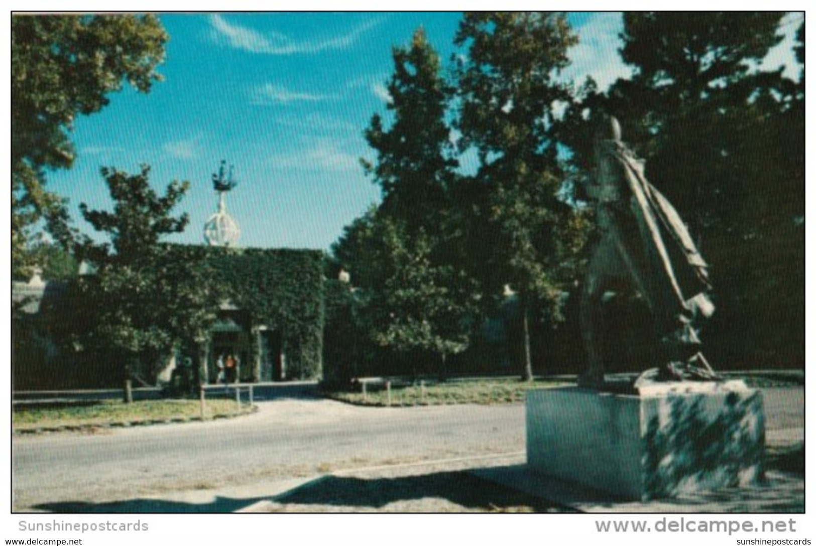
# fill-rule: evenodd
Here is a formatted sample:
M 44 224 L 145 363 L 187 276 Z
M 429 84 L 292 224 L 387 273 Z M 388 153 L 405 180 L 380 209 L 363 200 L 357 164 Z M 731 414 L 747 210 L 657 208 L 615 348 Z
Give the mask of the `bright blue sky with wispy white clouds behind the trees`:
M 49 175 L 48 187 L 69 198 L 72 217 L 91 227 L 78 204 L 109 209 L 101 166 L 135 172 L 152 166 L 163 189 L 192 184 L 179 211 L 190 216 L 170 240 L 202 242 L 215 212 L 211 174 L 222 159 L 240 181 L 227 197 L 240 246 L 328 249 L 343 227 L 379 200 L 359 158 L 373 159 L 363 130 L 386 112 L 392 46 L 419 26 L 443 61 L 456 53 L 458 13 L 268 13 L 162 15 L 171 40 L 149 95 L 126 89 L 107 108 L 79 118 L 73 169 Z M 581 42 L 565 74 L 592 74 L 602 87 L 628 69 L 617 54 L 621 17 L 570 15 Z M 795 24 L 787 25 L 792 35 Z M 767 60 L 790 62 L 790 37 Z

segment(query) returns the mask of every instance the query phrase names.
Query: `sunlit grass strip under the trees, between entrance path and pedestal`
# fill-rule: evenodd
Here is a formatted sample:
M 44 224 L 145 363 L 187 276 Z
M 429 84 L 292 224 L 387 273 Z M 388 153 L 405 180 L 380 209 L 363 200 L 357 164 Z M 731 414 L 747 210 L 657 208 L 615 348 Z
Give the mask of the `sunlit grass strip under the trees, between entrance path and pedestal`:
M 524 402 L 530 389 L 548 389 L 569 385 L 562 381 L 519 381 L 517 378 L 425 381 L 423 388 L 415 384 L 392 384 L 392 406 L 437 406 L 442 404 L 499 404 Z M 361 390 L 328 390 L 327 398 L 364 406 L 388 406 L 388 391 L 384 384 L 366 385 Z

